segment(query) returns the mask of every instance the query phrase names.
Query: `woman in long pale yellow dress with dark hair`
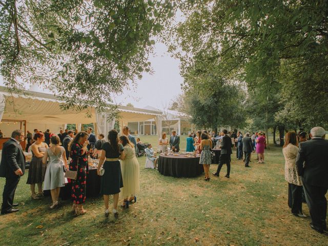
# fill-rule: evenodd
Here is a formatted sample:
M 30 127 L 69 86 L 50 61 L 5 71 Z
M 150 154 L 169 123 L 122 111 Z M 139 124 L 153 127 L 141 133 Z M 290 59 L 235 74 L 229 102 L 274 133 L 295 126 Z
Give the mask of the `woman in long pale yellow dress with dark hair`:
M 122 207 L 129 208 L 129 203 L 136 202 L 136 194 L 139 192 L 139 162 L 135 156 L 135 149 L 128 137 L 119 137 L 120 143 L 124 146 L 124 160 L 121 160 L 121 172 L 123 187 L 120 189 L 120 197 L 123 198 Z

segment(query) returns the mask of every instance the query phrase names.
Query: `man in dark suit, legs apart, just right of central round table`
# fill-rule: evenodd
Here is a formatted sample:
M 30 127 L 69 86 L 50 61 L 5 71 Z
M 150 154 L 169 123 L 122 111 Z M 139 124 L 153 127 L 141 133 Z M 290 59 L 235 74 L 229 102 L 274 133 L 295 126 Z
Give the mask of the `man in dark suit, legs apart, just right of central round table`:
M 227 164 L 227 175 L 224 177 L 230 178 L 230 161 L 231 161 L 231 137 L 228 136 L 228 131 L 223 130 L 224 136 L 222 137 L 221 144 L 221 154 L 219 157 L 219 165 L 217 167 L 216 173 L 213 173 L 214 176 L 220 176 L 220 171 L 224 163 Z

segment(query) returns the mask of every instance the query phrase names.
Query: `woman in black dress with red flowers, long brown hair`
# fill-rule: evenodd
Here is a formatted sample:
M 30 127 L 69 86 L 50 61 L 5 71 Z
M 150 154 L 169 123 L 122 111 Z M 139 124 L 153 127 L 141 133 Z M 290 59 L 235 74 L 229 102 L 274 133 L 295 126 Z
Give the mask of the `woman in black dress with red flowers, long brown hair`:
M 83 203 L 86 201 L 86 179 L 88 170 L 88 149 L 87 146 L 88 133 L 79 132 L 69 144 L 69 151 L 71 161 L 69 170 L 77 170 L 76 180 L 71 179 L 72 182 L 72 199 L 73 209 L 76 215 L 85 214 L 87 211 L 83 208 Z

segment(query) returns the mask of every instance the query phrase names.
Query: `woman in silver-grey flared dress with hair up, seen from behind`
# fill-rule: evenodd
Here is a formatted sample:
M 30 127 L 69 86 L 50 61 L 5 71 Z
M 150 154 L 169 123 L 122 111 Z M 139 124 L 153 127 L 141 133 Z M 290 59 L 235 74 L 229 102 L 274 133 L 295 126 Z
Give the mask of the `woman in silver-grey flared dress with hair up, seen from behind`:
M 60 187 L 64 187 L 65 183 L 67 183 L 64 167 L 68 170 L 68 166 L 65 149 L 59 146 L 59 137 L 57 135 L 52 136 L 50 142 L 51 147 L 47 149 L 42 160 L 45 165 L 49 159 L 43 189 L 50 190 L 52 198 L 52 206 L 50 208 L 54 209 L 58 206 Z

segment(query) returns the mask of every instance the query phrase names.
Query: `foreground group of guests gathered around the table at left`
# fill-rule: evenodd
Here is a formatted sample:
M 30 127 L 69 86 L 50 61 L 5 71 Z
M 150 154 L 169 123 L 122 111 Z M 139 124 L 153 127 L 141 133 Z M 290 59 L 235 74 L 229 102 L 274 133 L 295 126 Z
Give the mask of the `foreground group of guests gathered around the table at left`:
M 126 127 L 126 129 L 128 129 Z M 88 129 L 90 131 L 90 129 Z M 100 193 L 104 195 L 105 215 L 109 215 L 108 202 L 109 195 L 114 195 L 113 214 L 117 218 L 117 202 L 119 193 L 123 199 L 122 207 L 128 208 L 129 203 L 136 201 L 139 191 L 139 164 L 135 155 L 135 145 L 129 140 L 134 138 L 122 135 L 118 138 L 116 130 L 111 130 L 108 134 L 109 141 L 103 138 L 94 139 L 94 150 L 89 148 L 91 133 L 78 132 L 75 136 L 68 131 L 70 141 L 63 139 L 63 146 L 60 146 L 60 138 L 57 135 L 50 137 L 50 147 L 46 144 L 45 135 L 36 132 L 33 136 L 34 143 L 31 146 L 32 159 L 28 173 L 27 183 L 31 187 L 32 199 L 39 199 L 43 196 L 43 190 L 50 190 L 52 197 L 51 209 L 58 206 L 60 188 L 71 182 L 71 197 L 73 200 L 73 210 L 76 215 L 85 214 L 83 208 L 86 201 L 86 177 L 88 172 L 88 155 L 95 155 L 95 151 L 100 153 L 97 174 L 103 174 L 101 178 Z M 99 134 L 104 136 L 103 134 Z M 0 163 L 0 177 L 6 177 L 6 185 L 3 192 L 3 204 L 1 213 L 13 213 L 18 209 L 17 203 L 13 203 L 14 193 L 18 185 L 20 176 L 25 173 L 25 156 L 19 142 L 24 141 L 25 136 L 21 130 L 15 130 L 11 139 L 5 142 Z M 93 137 L 91 137 L 93 139 Z M 100 140 L 100 141 L 99 141 Z M 103 144 L 97 145 L 97 141 Z M 135 139 L 134 139 L 135 142 Z M 69 152 L 67 155 L 66 152 Z M 68 163 L 68 157 L 70 161 Z M 119 161 L 121 160 L 121 162 Z M 100 172 L 101 166 L 105 172 Z M 65 171 L 77 172 L 76 179 L 67 179 Z M 42 187 L 42 183 L 44 186 Z M 35 192 L 35 184 L 38 192 Z

